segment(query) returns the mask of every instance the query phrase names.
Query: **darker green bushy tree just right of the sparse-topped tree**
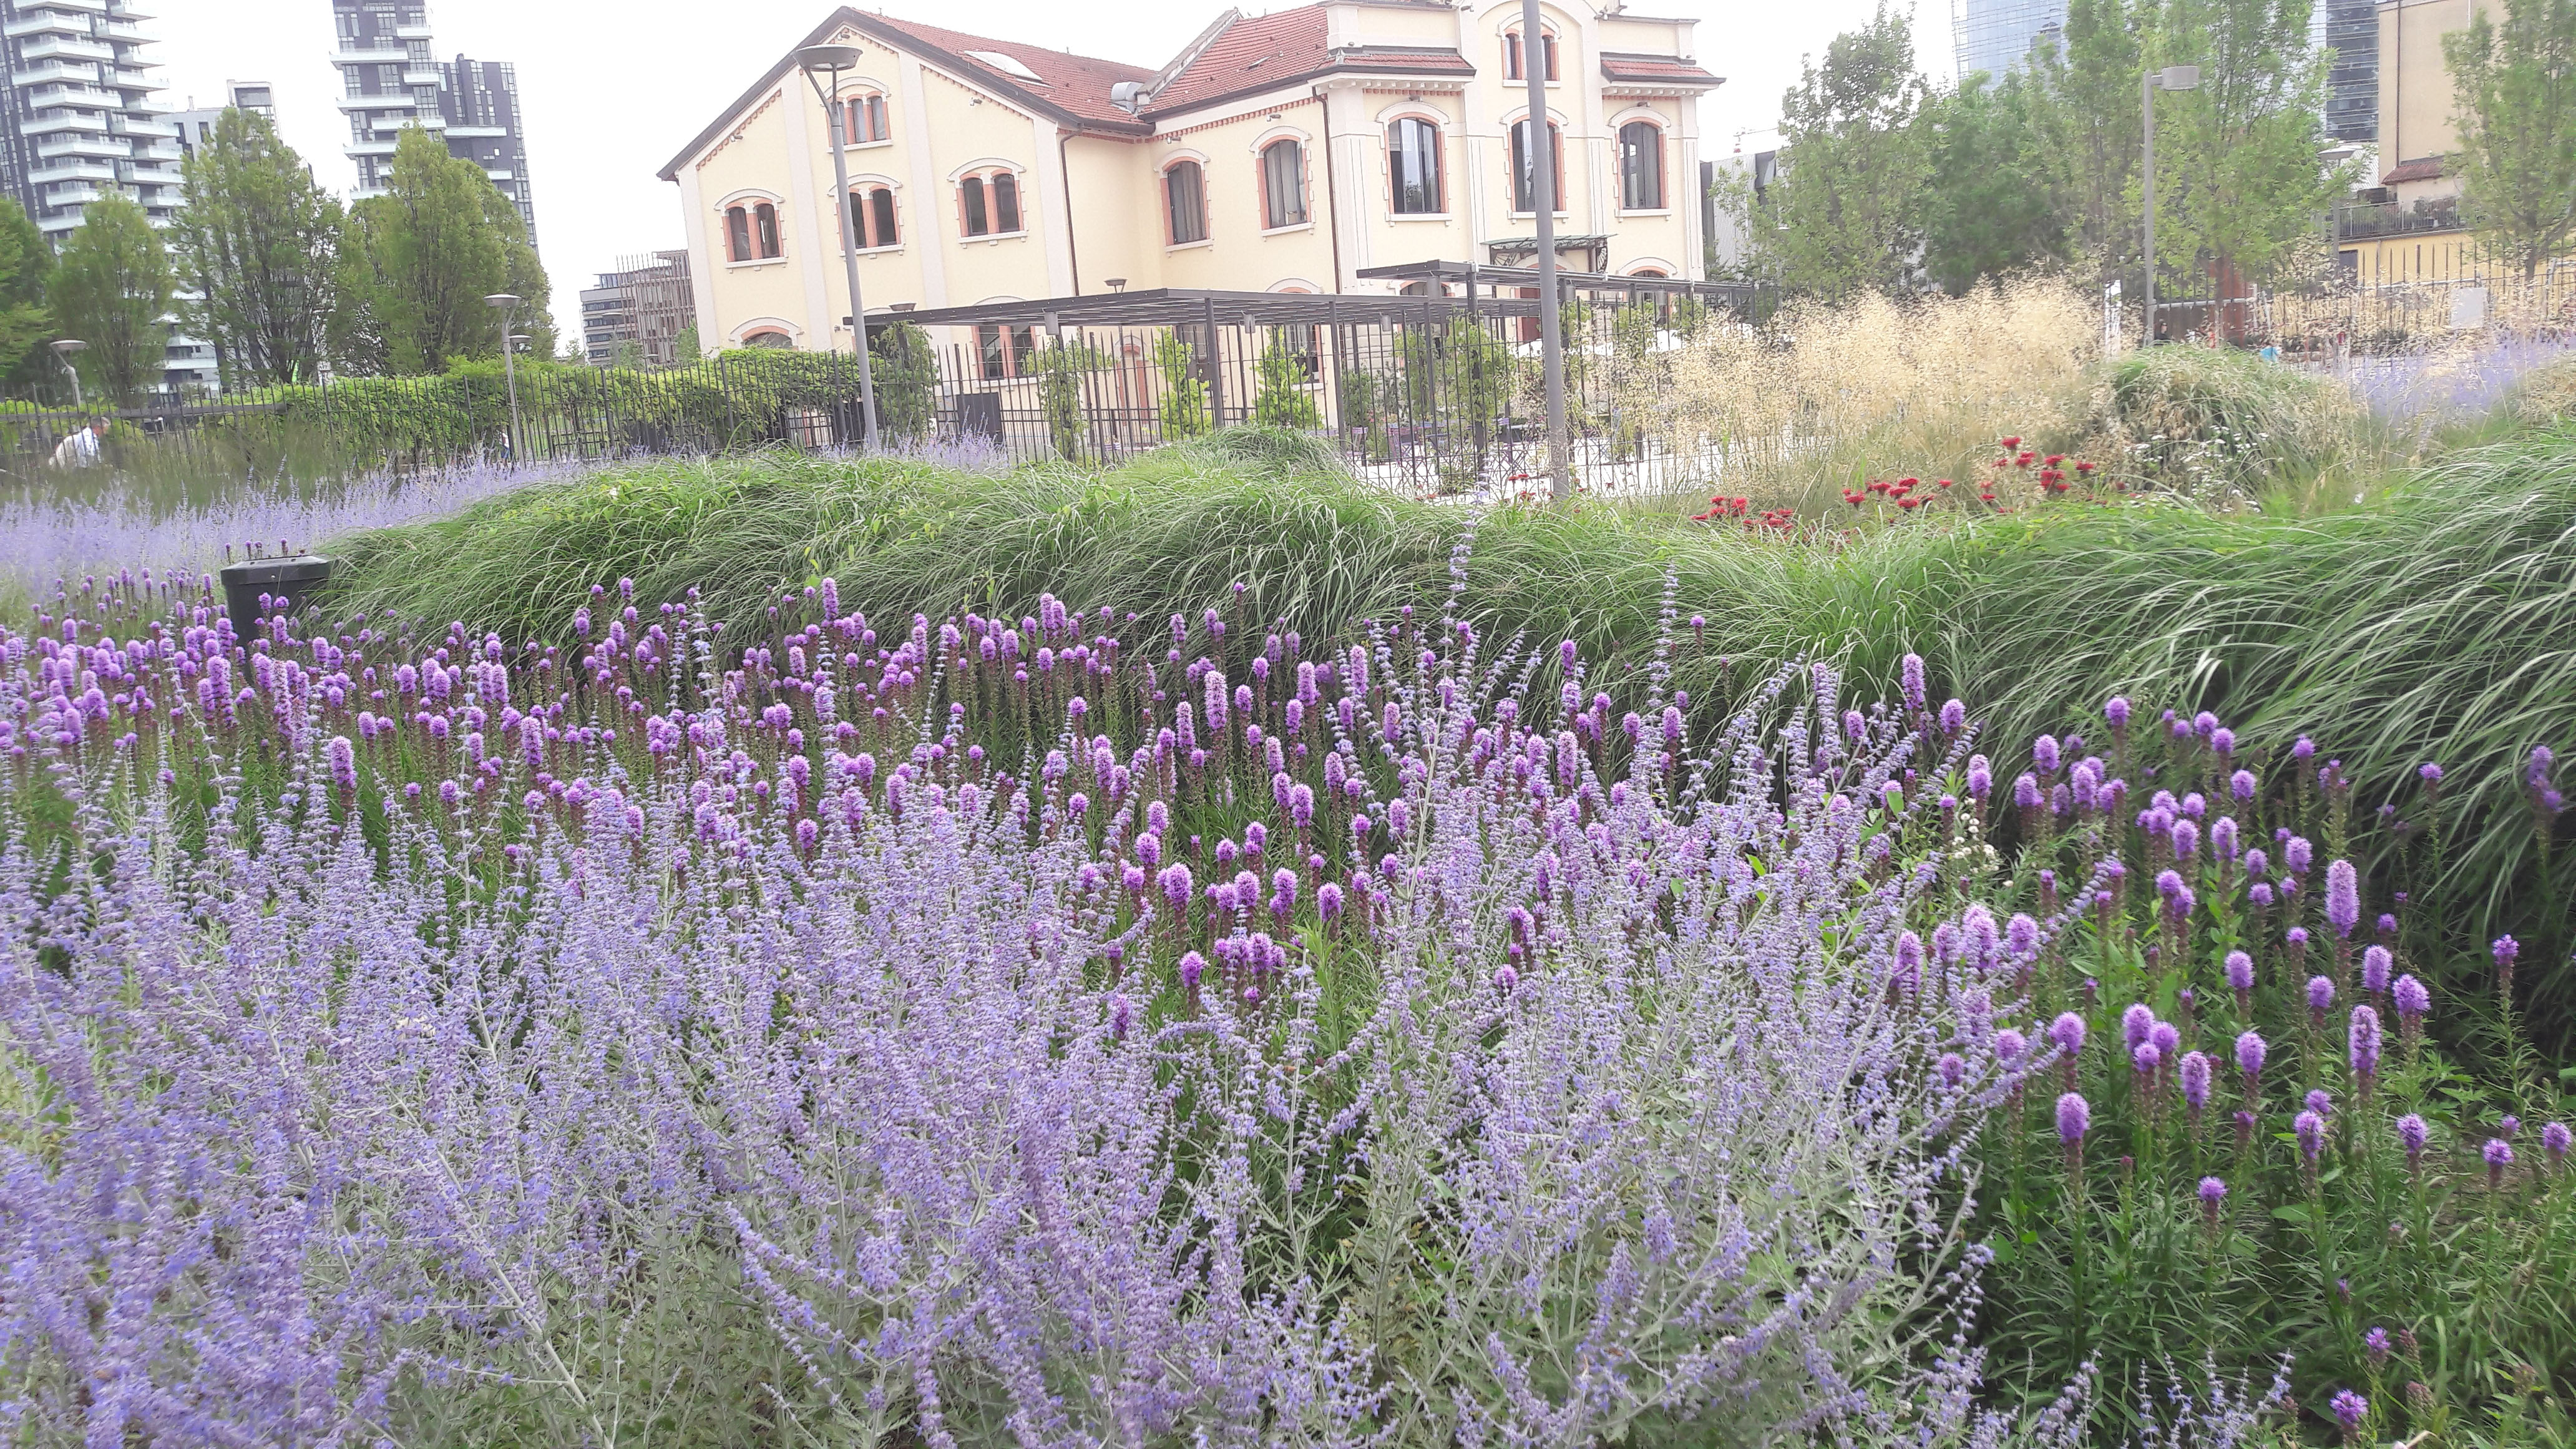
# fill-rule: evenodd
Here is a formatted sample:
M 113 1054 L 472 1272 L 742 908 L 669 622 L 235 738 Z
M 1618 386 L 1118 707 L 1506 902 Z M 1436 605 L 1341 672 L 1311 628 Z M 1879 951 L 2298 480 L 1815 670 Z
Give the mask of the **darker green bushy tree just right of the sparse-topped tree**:
M 2032 124 L 2035 85 L 2014 70 L 1924 103 L 1924 273 L 1960 297 L 1981 276 L 2066 258 L 2058 170 Z

